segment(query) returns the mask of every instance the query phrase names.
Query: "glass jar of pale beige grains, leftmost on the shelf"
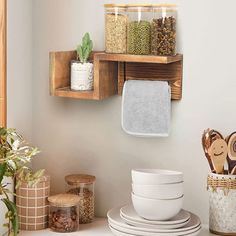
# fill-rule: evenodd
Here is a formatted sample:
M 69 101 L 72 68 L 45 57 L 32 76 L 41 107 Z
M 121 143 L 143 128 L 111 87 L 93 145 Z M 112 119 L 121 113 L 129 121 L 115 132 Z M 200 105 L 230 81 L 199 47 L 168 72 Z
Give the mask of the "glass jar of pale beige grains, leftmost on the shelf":
M 105 51 L 106 53 L 127 52 L 126 5 L 105 4 Z

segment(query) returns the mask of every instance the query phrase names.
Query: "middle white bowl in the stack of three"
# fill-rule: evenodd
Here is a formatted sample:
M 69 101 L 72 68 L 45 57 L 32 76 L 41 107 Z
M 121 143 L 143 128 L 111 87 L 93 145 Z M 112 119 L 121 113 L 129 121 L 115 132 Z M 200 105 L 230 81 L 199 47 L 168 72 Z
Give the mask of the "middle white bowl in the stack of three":
M 174 199 L 184 194 L 184 183 L 141 185 L 132 184 L 133 193 L 140 197 L 153 199 Z

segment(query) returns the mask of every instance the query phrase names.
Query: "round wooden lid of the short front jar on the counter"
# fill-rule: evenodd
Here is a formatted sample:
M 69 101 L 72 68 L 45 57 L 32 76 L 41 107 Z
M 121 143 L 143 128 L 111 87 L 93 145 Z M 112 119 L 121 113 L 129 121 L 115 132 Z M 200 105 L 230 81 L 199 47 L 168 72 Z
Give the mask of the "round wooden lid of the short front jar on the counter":
M 55 207 L 72 207 L 79 204 L 80 197 L 75 194 L 61 193 L 48 197 L 48 201 Z

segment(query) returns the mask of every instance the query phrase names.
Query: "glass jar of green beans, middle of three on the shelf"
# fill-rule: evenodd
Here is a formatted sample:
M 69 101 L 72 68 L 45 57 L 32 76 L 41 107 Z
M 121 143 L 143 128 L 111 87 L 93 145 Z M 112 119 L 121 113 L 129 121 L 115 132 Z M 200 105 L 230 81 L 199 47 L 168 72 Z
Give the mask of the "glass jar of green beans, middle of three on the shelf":
M 148 55 L 151 53 L 152 6 L 127 5 L 127 51 L 129 54 Z

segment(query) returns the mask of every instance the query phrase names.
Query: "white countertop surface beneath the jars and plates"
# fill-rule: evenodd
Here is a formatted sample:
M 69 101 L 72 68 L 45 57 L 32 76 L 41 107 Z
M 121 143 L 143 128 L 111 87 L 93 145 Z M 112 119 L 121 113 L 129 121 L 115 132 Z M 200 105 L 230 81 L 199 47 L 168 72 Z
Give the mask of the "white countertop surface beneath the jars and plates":
M 80 225 L 80 229 L 74 233 L 55 233 L 50 231 L 49 229 L 40 230 L 40 231 L 21 231 L 19 236 L 58 236 L 58 235 L 66 235 L 66 236 L 112 236 L 108 224 L 107 219 L 105 218 L 97 218 L 91 224 Z M 211 236 L 214 234 L 210 234 L 207 227 L 203 227 L 202 232 L 199 236 Z

